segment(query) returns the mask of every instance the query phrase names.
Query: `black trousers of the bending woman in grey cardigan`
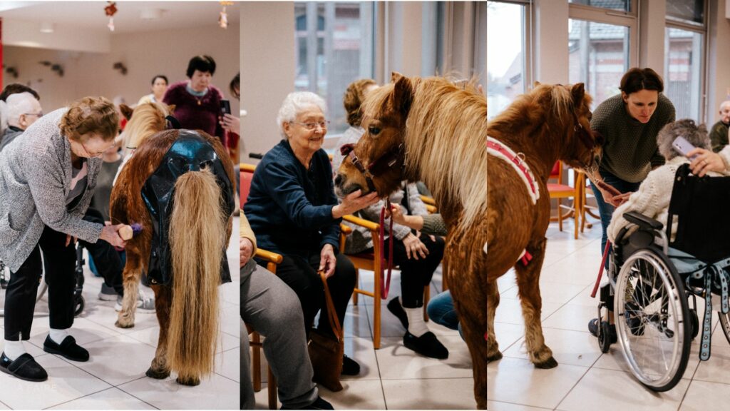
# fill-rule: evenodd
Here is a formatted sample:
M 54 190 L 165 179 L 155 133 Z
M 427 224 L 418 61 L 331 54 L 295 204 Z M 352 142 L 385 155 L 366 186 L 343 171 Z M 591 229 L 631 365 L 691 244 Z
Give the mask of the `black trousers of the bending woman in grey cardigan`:
M 76 286 L 76 250 L 66 244 L 66 234 L 49 227 L 43 229 L 31 255 L 10 273 L 5 290 L 5 339 L 27 341 L 31 337 L 33 312 L 43 268 L 48 284 L 50 328 L 71 328 L 74 324 L 74 287 Z M 43 262 L 41 262 L 43 251 Z M 41 266 L 43 264 L 43 267 Z

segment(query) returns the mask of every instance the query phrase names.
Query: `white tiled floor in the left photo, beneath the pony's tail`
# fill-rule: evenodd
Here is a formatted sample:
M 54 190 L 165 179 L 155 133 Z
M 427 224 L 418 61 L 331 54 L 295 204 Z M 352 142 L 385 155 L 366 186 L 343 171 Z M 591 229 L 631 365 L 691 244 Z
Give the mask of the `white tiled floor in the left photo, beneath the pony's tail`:
M 26 349 L 47 370 L 45 382 L 25 382 L 0 374 L 0 410 L 237 410 L 240 404 L 240 333 L 238 328 L 238 218 L 234 219 L 228 263 L 233 282 L 220 287 L 222 313 L 215 374 L 197 387 L 145 376 L 155 355 L 159 327 L 154 314 L 137 312 L 134 328 L 116 328 L 114 302 L 97 297 L 102 280 L 85 273 L 85 309 L 71 334 L 89 350 L 85 363 L 67 361 L 42 350 L 48 333 L 47 303 L 37 304 L 31 339 Z M 144 287 L 146 293 L 153 293 Z M 1 324 L 1 321 L 0 321 Z M 2 327 L 0 325 L 0 331 Z M 4 343 L 0 339 L 0 350 Z

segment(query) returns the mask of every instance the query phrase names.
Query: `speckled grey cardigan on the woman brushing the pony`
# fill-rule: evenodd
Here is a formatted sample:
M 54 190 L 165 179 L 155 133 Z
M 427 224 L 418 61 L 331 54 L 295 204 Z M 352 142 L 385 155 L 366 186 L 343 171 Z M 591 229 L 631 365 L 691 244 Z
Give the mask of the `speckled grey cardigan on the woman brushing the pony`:
M 102 225 L 82 220 L 91 202 L 101 159 L 88 159 L 81 200 L 66 210 L 71 189 L 71 146 L 59 124 L 61 108 L 39 118 L 0 152 L 0 259 L 12 271 L 38 244 L 45 226 L 96 243 Z

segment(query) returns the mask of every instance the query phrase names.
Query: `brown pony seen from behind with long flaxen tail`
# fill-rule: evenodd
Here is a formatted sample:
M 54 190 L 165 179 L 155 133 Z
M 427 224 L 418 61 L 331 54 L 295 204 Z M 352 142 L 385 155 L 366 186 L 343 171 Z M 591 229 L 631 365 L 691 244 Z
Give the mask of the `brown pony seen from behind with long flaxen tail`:
M 235 181 L 233 164 L 220 141 L 204 132 L 199 135 L 215 149 L 226 175 Z M 112 221 L 137 222 L 143 227 L 126 244 L 123 306 L 115 324 L 120 328 L 134 326 L 139 279 L 150 259 L 152 219 L 140 194 L 142 186 L 179 136 L 180 131 L 172 129 L 147 137 L 123 167 L 112 189 Z M 169 242 L 174 281 L 151 286 L 155 291 L 160 335 L 147 376 L 163 379 L 172 369 L 180 384 L 198 385 L 201 375 L 210 374 L 214 368 L 220 257 L 231 236 L 233 218 L 224 211 L 215 176 L 202 165 L 200 171 L 188 171 L 177 178 L 173 204 Z

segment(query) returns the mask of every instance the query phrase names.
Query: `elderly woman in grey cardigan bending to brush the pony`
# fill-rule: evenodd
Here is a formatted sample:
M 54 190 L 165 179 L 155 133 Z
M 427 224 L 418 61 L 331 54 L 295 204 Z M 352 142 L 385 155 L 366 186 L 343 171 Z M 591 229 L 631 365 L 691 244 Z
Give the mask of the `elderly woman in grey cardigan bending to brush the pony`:
M 10 268 L 1 372 L 28 381 L 48 377 L 23 347 L 31 336 L 44 267 L 50 333 L 43 350 L 73 361 L 89 358 L 68 333 L 74 323 L 73 239 L 125 245 L 117 233 L 121 225 L 105 227 L 82 219 L 118 124 L 112 102 L 85 97 L 40 118 L 0 156 L 0 258 Z

